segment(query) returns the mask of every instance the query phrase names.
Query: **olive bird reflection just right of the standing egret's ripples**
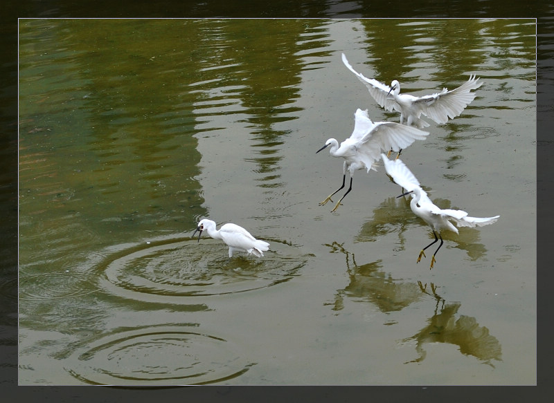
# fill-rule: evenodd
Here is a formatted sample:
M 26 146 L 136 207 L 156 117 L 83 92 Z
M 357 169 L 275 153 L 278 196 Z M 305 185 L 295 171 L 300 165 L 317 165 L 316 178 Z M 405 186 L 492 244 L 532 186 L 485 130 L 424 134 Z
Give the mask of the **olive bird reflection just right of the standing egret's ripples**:
M 402 310 L 410 303 L 421 299 L 418 285 L 395 280 L 390 274 L 379 270 L 382 268 L 381 261 L 357 265 L 354 254 L 345 250 L 341 244 L 334 242 L 326 246 L 332 248 L 332 252 L 346 255 L 346 267 L 350 277 L 350 283 L 342 290 L 337 290 L 333 310 L 339 311 L 344 308 L 344 297 L 373 303 L 382 312 Z M 349 258 L 352 260 L 352 267 Z

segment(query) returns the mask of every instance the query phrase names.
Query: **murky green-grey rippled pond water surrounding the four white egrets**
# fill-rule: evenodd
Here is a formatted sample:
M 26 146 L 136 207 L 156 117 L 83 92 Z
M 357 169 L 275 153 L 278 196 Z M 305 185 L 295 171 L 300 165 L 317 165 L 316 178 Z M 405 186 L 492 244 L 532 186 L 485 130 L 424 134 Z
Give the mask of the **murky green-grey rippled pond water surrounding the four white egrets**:
M 20 384 L 535 384 L 535 21 L 21 20 Z M 358 171 L 337 212 L 343 66 L 477 97 L 402 153 L 442 208 L 494 225 L 433 240 Z M 236 223 L 235 256 L 192 234 Z

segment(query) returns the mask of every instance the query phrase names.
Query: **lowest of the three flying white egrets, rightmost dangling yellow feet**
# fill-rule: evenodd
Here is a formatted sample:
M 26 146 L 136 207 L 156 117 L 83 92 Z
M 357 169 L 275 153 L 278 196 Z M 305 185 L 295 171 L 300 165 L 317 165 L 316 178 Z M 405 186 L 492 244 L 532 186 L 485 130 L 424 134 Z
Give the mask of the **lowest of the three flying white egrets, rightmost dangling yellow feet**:
M 470 217 L 466 212 L 462 210 L 454 209 L 440 209 L 431 202 L 431 199 L 427 196 L 427 193 L 420 187 L 420 182 L 411 171 L 406 167 L 402 160 L 389 160 L 386 155 L 381 154 L 383 163 L 386 169 L 387 174 L 393 177 L 394 181 L 406 189 L 406 193 L 401 194 L 398 197 L 406 196 L 410 194 L 412 199 L 410 200 L 411 211 L 418 217 L 422 218 L 431 229 L 433 229 L 433 234 L 435 240 L 426 247 L 424 247 L 420 256 L 418 257 L 418 263 L 421 260 L 421 256 L 425 256 L 425 250 L 438 241 L 438 236 L 440 237 L 440 245 L 438 245 L 437 250 L 431 258 L 431 266 L 429 269 L 433 268 L 435 260 L 435 255 L 441 246 L 443 246 L 443 236 L 440 235 L 441 229 L 448 229 L 449 231 L 456 232 L 458 234 L 458 228 L 454 227 L 450 221 L 454 221 L 459 227 L 483 227 L 483 225 L 488 225 L 496 222 L 500 216 L 487 217 L 487 218 L 478 218 Z

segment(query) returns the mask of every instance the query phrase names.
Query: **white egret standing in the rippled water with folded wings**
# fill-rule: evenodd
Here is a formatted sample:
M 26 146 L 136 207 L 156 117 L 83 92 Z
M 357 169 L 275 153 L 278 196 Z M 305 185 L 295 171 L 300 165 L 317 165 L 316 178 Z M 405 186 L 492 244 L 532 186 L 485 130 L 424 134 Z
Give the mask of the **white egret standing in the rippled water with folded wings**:
M 198 234 L 198 242 L 200 242 L 200 236 L 202 236 L 202 231 L 204 230 L 212 238 L 221 239 L 229 245 L 229 259 L 233 257 L 233 252 L 235 251 L 247 252 L 248 254 L 261 257 L 264 256 L 263 251 L 269 250 L 269 243 L 254 238 L 246 229 L 232 223 L 227 223 L 222 225 L 220 229 L 215 229 L 215 222 L 204 218 L 198 223 L 198 227 L 193 233 L 193 236 L 195 236 L 197 231 L 200 232 Z

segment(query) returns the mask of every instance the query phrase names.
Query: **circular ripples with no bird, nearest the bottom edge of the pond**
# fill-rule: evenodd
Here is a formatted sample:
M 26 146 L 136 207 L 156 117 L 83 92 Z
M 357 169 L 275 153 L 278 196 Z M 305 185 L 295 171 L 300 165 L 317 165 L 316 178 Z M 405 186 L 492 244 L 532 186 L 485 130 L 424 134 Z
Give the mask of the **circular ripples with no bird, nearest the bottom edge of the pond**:
M 225 339 L 168 326 L 102 337 L 69 362 L 66 371 L 81 382 L 133 386 L 223 382 L 252 365 Z

